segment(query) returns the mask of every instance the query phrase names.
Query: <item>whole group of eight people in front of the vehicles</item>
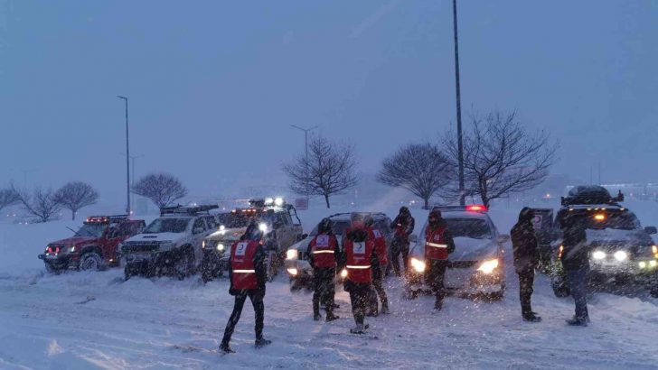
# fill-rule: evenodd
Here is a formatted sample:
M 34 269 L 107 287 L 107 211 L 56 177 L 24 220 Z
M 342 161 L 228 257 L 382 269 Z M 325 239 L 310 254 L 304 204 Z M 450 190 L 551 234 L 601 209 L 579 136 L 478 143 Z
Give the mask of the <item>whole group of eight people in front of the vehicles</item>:
M 540 316 L 532 311 L 531 295 L 534 283 L 534 270 L 538 264 L 537 238 L 532 226 L 534 213 L 531 208 L 523 208 L 519 222 L 512 227 L 512 247 L 514 267 L 519 275 L 522 318 L 538 322 Z M 560 220 L 564 231 L 562 264 L 567 271 L 571 293 L 576 301 L 576 315 L 568 320 L 570 325 L 587 325 L 587 301 L 585 282 L 588 270 L 588 254 L 585 243 L 585 227 L 581 222 L 569 217 Z M 413 232 L 415 220 L 409 208 L 400 208 L 400 213 L 391 224 L 395 235 L 391 241 L 390 265 L 397 276 L 401 276 L 400 254 L 405 272 L 409 269 L 409 236 Z M 240 240 L 230 249 L 230 294 L 235 296 L 235 304 L 221 340 L 220 350 L 232 353 L 230 337 L 240 319 L 245 301 L 249 297 L 256 313 L 256 347 L 271 343 L 263 338 L 263 318 L 265 282 L 265 251 L 260 243 L 262 232 L 255 222 L 249 224 Z M 428 215 L 425 234 L 425 282 L 435 294 L 434 310 L 443 307 L 445 297 L 444 277 L 448 266 L 448 255 L 455 251 L 455 242 L 447 227 L 447 222 L 437 209 Z M 330 218 L 324 218 L 317 227 L 317 234 L 308 245 L 309 263 L 314 269 L 313 319 L 320 320 L 320 305 L 324 303 L 326 321 L 339 319 L 334 314 L 334 278 L 339 266 L 345 268 L 344 290 L 349 292 L 355 327 L 353 334 L 362 334 L 368 328 L 366 316 L 377 316 L 380 312 L 389 313 L 389 302 L 383 286 L 383 278 L 389 265 L 386 240 L 381 230 L 373 226 L 370 215 L 353 213 L 351 226 L 345 230 L 342 245 L 333 232 Z M 381 302 L 381 310 L 379 303 Z

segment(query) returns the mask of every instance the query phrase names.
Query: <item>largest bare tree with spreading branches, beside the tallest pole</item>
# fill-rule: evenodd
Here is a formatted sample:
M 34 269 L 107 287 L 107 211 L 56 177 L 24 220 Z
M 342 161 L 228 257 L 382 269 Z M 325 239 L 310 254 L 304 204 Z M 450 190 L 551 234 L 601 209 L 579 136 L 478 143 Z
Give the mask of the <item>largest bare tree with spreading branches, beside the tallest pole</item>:
M 456 134 L 447 133 L 444 143 L 456 166 Z M 464 135 L 465 196 L 479 196 L 489 207 L 494 199 L 530 190 L 546 178 L 557 150 L 548 133 L 528 133 L 516 112 L 472 116 Z

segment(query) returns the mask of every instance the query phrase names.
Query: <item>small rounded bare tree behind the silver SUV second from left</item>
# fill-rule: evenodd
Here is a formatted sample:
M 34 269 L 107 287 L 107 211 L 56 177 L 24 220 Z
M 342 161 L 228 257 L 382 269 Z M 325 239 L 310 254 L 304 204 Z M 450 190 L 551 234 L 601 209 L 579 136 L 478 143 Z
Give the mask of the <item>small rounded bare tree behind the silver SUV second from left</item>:
M 151 199 L 158 208 L 164 208 L 186 196 L 187 188 L 174 175 L 152 173 L 139 179 L 133 185 L 132 192 Z

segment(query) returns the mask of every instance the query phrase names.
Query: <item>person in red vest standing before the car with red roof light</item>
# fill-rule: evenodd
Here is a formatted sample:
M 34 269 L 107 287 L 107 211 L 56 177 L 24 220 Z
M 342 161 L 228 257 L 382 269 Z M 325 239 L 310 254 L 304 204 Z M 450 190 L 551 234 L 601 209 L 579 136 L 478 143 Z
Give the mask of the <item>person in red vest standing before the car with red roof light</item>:
M 448 254 L 455 252 L 455 241 L 446 220 L 441 217 L 441 211 L 434 209 L 429 212 L 428 228 L 425 232 L 425 261 L 427 270 L 425 282 L 432 288 L 437 297 L 434 310 L 443 308 L 443 299 L 446 295 L 443 280 L 447 269 Z

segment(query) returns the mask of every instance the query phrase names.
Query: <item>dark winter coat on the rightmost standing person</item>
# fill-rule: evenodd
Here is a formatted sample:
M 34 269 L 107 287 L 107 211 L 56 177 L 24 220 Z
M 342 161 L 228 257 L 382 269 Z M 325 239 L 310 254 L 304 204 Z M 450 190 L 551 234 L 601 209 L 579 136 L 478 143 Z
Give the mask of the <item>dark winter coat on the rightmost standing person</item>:
M 587 220 L 570 216 L 562 221 L 562 266 L 567 270 L 579 270 L 589 266 L 587 245 Z

